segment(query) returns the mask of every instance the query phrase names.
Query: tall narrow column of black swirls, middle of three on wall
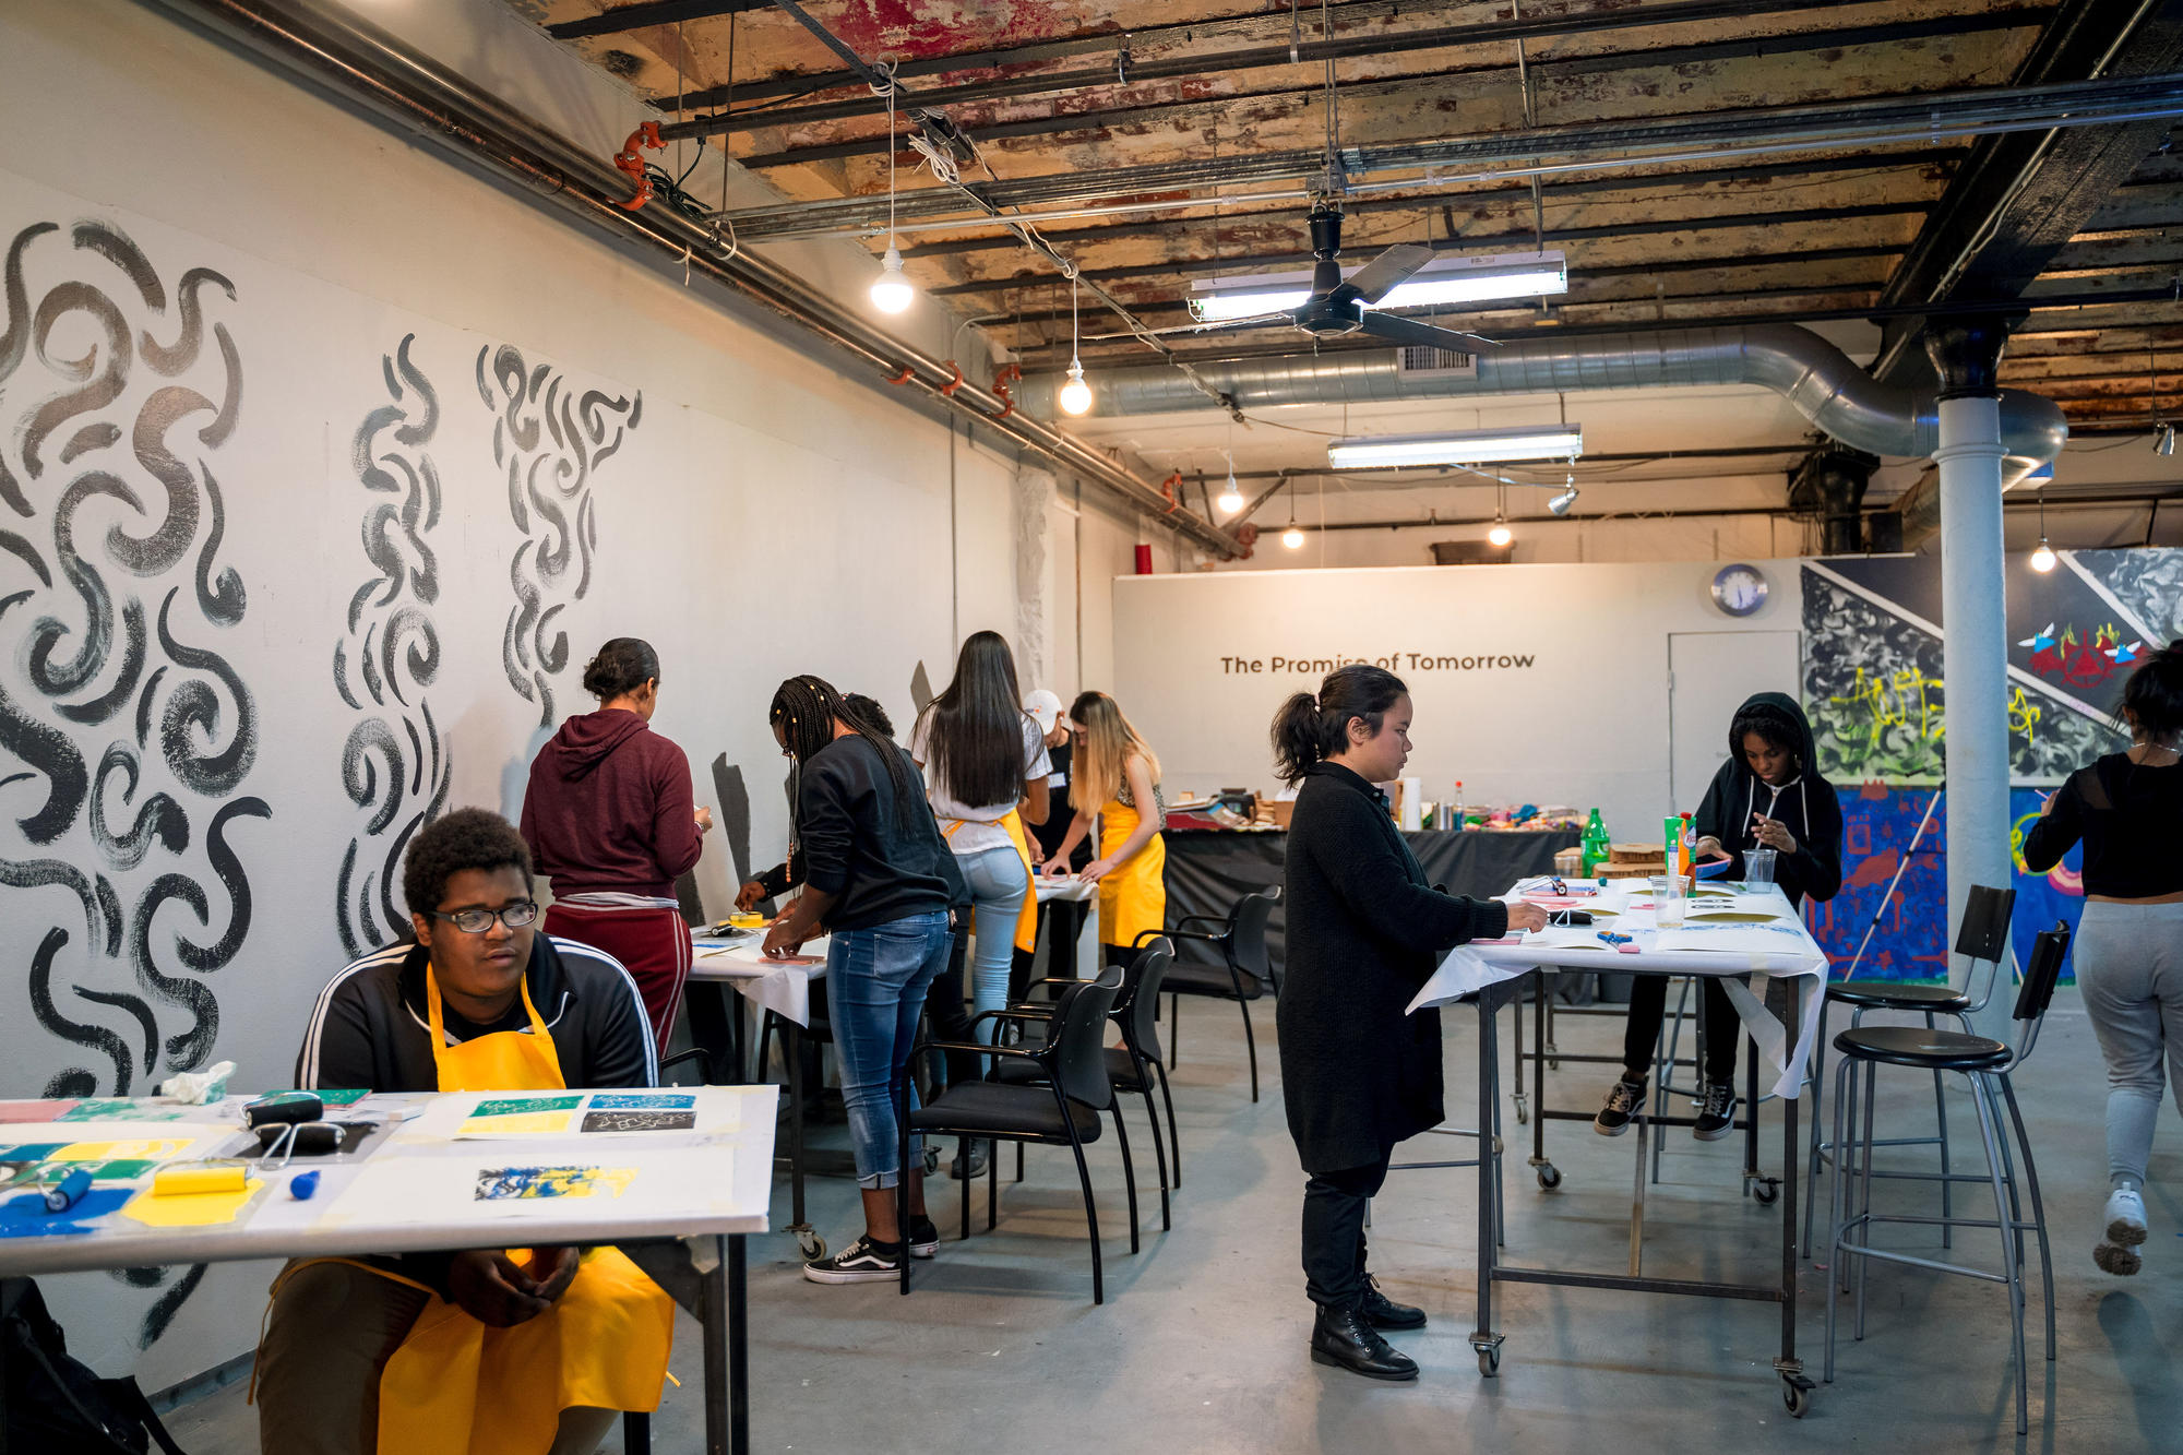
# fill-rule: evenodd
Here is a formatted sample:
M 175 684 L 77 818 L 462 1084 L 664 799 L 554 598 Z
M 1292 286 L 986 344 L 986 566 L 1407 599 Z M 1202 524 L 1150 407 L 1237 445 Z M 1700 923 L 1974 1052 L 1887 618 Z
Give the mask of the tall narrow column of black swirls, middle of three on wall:
M 439 677 L 439 470 L 428 452 L 439 393 L 410 358 L 417 334 L 380 358 L 386 404 L 356 428 L 351 465 L 371 492 L 365 559 L 375 575 L 349 594 L 347 634 L 334 642 L 334 688 L 358 712 L 341 745 L 341 786 L 365 815 L 334 885 L 334 926 L 351 957 L 408 926 L 395 904 L 402 852 L 448 806 L 452 762 L 426 690 Z

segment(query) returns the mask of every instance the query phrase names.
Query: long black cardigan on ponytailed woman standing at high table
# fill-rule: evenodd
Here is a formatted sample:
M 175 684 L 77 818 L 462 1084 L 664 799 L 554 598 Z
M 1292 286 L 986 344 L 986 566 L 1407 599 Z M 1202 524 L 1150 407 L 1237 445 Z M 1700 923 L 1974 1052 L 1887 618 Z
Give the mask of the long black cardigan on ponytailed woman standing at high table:
M 1386 795 L 1334 762 L 1297 791 L 1284 883 L 1288 1132 L 1305 1171 L 1364 1167 L 1443 1121 L 1441 1014 L 1404 1012 L 1445 950 L 1508 933 L 1508 907 L 1432 889 Z

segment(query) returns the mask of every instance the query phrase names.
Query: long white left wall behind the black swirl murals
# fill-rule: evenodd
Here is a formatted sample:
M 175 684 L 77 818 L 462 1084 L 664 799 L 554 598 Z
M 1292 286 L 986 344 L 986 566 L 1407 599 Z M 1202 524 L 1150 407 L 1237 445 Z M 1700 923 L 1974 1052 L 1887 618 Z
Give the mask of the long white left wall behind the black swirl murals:
M 572 133 L 587 125 L 618 138 L 629 125 L 633 107 L 611 83 L 561 66 L 559 52 L 500 4 L 450 0 L 378 17 L 448 46 L 443 55 L 526 105 L 559 109 Z M 504 671 L 511 557 L 526 535 L 493 457 L 496 411 L 480 398 L 480 350 L 513 345 L 526 369 L 622 400 L 603 406 L 600 443 L 620 435 L 620 446 L 594 461 L 587 485 L 596 511 L 589 590 L 574 599 L 570 579 L 554 594 L 570 642 L 568 664 L 552 675 L 554 717 L 589 706 L 576 677 L 598 640 L 651 638 L 664 660 L 655 728 L 688 752 L 699 802 L 714 800 L 707 765 L 716 754 L 742 765 L 760 861 L 779 852 L 786 828 L 779 756 L 764 725 L 766 699 L 784 675 L 816 671 L 873 693 L 906 723 L 919 660 L 945 682 L 961 631 L 1013 625 L 1011 454 L 906 409 L 878 380 L 836 374 L 816 345 L 808 352 L 771 326 L 753 328 L 694 299 L 679 277 L 220 50 L 157 9 L 127 0 L 0 9 L 0 135 L 11 142 L 0 157 L 0 242 L 41 223 L 59 227 L 24 242 L 24 304 L 0 304 L 0 339 L 28 328 L 26 315 L 39 306 L 55 315 L 44 336 L 26 336 L 17 367 L 0 369 L 0 463 L 31 507 L 0 509 L 0 527 L 24 542 L 24 551 L 0 553 L 0 596 L 13 596 L 0 610 L 0 688 L 17 719 L 59 734 L 48 743 L 65 741 L 87 765 L 109 743 L 142 760 L 129 802 L 114 778 L 109 824 L 127 826 L 153 793 L 168 793 L 190 824 L 186 845 L 155 845 L 133 867 L 94 843 L 85 811 L 31 841 L 22 821 L 52 797 L 52 782 L 11 730 L 0 747 L 0 859 L 55 861 L 85 880 L 103 874 L 124 915 L 146 902 L 155 876 L 194 880 L 205 894 L 203 920 L 188 900 L 168 900 L 148 922 L 148 957 L 162 974 L 216 996 L 218 1029 L 203 1060 L 234 1060 L 238 1090 L 288 1081 L 308 1005 L 345 959 L 336 889 L 367 815 L 343 786 L 343 745 L 367 712 L 336 693 L 332 660 L 349 640 L 351 594 L 378 577 L 365 555 L 365 516 L 373 502 L 402 498 L 367 489 L 351 450 L 369 411 L 395 404 L 408 424 L 426 415 L 413 385 L 404 382 L 399 400 L 389 393 L 389 356 L 404 339 L 413 339 L 410 367 L 437 393 L 437 426 L 402 452 L 434 463 L 441 513 L 419 522 L 439 564 L 437 596 L 424 601 L 415 577 L 399 596 L 426 612 L 441 655 L 437 671 L 424 673 L 430 684 L 410 675 L 408 712 L 389 708 L 384 717 L 399 732 L 404 717 L 421 721 L 415 697 L 430 703 L 450 758 L 450 804 L 513 813 L 539 732 L 539 708 Z M 131 238 L 162 297 L 142 297 L 114 262 L 72 245 L 81 221 Z M 827 262 L 845 277 L 851 264 L 838 256 Z M 216 323 L 234 341 L 234 428 L 210 443 L 199 435 L 207 415 L 183 411 L 151 433 L 177 454 L 188 502 L 205 507 L 207 478 L 216 478 L 225 533 L 210 544 L 207 509 L 186 531 L 177 561 L 138 575 L 116 561 L 109 529 L 142 535 L 168 516 L 164 487 L 131 448 L 138 424 L 159 413 L 148 406 L 155 391 L 183 385 L 214 402 L 236 393 L 210 341 L 177 378 L 153 371 L 135 341 L 181 334 L 179 293 L 190 269 L 231 282 L 231 297 L 201 286 L 199 299 L 207 328 Z M 94 306 L 68 306 L 65 284 L 74 282 L 107 299 L 98 308 L 118 310 L 129 367 L 122 393 L 68 419 L 33 472 L 22 426 L 79 385 L 76 360 L 92 360 L 96 374 L 114 356 Z M 945 332 L 945 321 L 912 319 L 912 328 Z M 114 435 L 85 435 L 81 452 L 61 459 L 85 424 L 109 424 Z M 380 457 L 395 450 L 389 430 L 373 435 Z M 59 714 L 63 701 L 81 703 L 116 682 L 120 653 L 74 693 L 41 693 L 31 682 L 39 618 L 59 623 L 63 655 L 85 638 L 85 605 L 57 570 L 52 527 L 70 483 L 90 470 L 114 474 L 142 502 L 133 509 L 94 494 L 74 509 L 74 551 L 98 570 L 116 610 L 133 596 L 157 618 L 177 592 L 170 627 L 179 653 L 216 653 L 242 684 L 255 754 L 227 791 L 192 791 L 162 756 L 159 719 L 188 682 L 207 684 L 218 717 L 181 725 L 177 743 L 212 754 L 236 734 L 240 701 L 201 660 L 153 640 L 151 664 L 168 673 L 151 690 L 142 745 L 127 703 L 92 723 Z M 1072 483 L 1063 492 L 1074 498 Z M 1052 684 L 1063 693 L 1087 664 L 1076 653 L 1078 559 L 1089 570 L 1083 655 L 1107 671 L 1107 581 L 1129 557 L 1126 527 L 1096 509 L 1081 524 L 1083 555 L 1078 520 L 1054 520 L 1054 537 L 1067 542 L 1050 588 L 1067 605 L 1057 616 L 1065 631 L 1054 629 L 1057 642 L 1067 642 L 1067 677 Z M 404 570 L 419 564 L 408 542 L 399 555 Z M 50 581 L 37 579 L 33 557 Z M 240 579 L 240 620 L 207 620 L 196 605 L 201 559 L 210 583 L 225 568 Z M 351 682 L 351 690 L 360 688 Z M 207 845 L 214 813 L 238 797 L 266 806 L 262 817 L 234 817 L 225 828 L 251 898 L 249 928 L 216 972 L 190 972 L 177 944 L 214 942 L 238 922 Z M 386 839 L 362 839 L 365 863 L 375 863 Z M 709 907 L 725 907 L 729 867 L 718 837 L 699 878 Z M 146 992 L 127 944 L 107 955 L 65 885 L 0 896 L 0 955 L 15 966 L 0 983 L 0 1057 L 9 1066 L 0 1097 L 35 1097 L 70 1073 L 98 1090 L 116 1088 L 114 1057 L 55 1033 L 55 1018 L 87 1027 L 85 1040 L 118 1038 L 133 1090 L 170 1075 L 175 1053 L 155 1049 L 146 1066 L 144 1036 L 127 1007 L 79 990 L 140 996 L 157 1038 L 188 1031 L 196 1016 Z M 70 937 L 52 955 L 52 1009 L 39 1016 L 24 968 L 48 928 Z M 140 1348 L 146 1311 L 179 1274 L 159 1289 L 57 1278 L 48 1296 L 74 1352 L 109 1374 L 135 1368 L 157 1389 L 247 1350 L 269 1280 L 266 1267 L 214 1267 L 166 1337 Z

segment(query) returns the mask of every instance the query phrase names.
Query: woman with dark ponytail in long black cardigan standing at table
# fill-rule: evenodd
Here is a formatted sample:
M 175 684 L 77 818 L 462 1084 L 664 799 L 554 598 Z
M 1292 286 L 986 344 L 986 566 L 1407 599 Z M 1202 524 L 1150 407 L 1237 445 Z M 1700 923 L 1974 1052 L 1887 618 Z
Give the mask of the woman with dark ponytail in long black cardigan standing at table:
M 1404 1009 L 1443 950 L 1543 928 L 1537 904 L 1439 894 L 1373 784 L 1410 758 L 1410 693 L 1395 673 L 1345 666 L 1273 717 L 1273 754 L 1299 784 L 1288 826 L 1288 968 L 1275 1014 L 1281 1097 L 1303 1184 L 1303 1287 L 1319 1306 L 1312 1361 L 1417 1379 L 1380 1337 L 1421 1328 L 1364 1271 L 1364 1204 L 1395 1143 L 1439 1125 L 1441 1016 Z

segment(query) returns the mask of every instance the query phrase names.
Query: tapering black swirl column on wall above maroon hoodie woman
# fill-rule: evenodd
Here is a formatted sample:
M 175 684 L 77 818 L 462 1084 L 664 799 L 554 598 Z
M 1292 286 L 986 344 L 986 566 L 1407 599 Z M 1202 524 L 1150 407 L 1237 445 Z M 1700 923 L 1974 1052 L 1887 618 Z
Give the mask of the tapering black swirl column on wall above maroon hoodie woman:
M 524 363 L 502 343 L 478 350 L 478 398 L 498 413 L 493 463 L 509 485 L 509 513 L 526 535 L 509 561 L 515 607 L 500 634 L 500 664 L 539 725 L 554 721 L 552 677 L 568 666 L 568 631 L 554 618 L 592 590 L 598 516 L 592 476 L 644 417 L 644 395 L 578 389 L 550 363 Z

